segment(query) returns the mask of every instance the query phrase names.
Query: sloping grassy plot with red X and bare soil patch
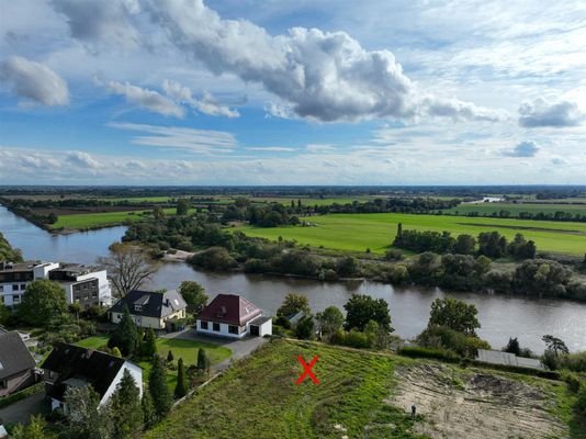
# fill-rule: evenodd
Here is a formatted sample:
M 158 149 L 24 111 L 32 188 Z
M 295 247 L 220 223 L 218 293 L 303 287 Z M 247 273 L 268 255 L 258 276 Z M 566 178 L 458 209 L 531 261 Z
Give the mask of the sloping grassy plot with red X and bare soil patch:
M 300 354 L 319 356 L 313 368 L 319 384 L 295 384 Z M 145 438 L 562 438 L 572 402 L 564 390 L 522 375 L 275 340 Z M 415 419 L 407 413 L 413 403 Z

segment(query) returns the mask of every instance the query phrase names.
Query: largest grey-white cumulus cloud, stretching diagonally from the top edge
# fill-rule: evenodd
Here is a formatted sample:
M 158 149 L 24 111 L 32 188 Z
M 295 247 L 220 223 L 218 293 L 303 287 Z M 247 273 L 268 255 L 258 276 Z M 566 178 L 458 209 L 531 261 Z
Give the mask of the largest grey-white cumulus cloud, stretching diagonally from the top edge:
M 160 0 L 153 16 L 171 42 L 213 72 L 258 82 L 280 98 L 270 114 L 323 122 L 427 113 L 495 121 L 462 101 L 422 100 L 390 50 L 367 50 L 345 32 L 293 27 L 272 36 L 246 20 L 224 20 L 203 0 Z

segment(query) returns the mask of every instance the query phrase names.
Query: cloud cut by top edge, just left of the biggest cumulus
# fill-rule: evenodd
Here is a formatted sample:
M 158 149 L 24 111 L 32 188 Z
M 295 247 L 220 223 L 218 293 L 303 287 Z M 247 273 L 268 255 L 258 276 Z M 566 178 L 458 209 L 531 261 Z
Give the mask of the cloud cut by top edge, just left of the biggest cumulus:
M 95 47 L 95 43 L 132 46 L 138 32 L 128 18 L 140 12 L 137 0 L 53 0 L 57 12 L 67 18 L 71 36 Z

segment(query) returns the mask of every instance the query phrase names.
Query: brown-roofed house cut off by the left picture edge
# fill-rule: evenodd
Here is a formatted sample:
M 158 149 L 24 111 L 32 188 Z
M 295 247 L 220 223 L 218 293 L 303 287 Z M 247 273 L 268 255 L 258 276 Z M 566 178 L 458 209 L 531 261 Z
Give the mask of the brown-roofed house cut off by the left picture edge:
M 0 334 L 0 396 L 36 383 L 36 363 L 16 331 Z

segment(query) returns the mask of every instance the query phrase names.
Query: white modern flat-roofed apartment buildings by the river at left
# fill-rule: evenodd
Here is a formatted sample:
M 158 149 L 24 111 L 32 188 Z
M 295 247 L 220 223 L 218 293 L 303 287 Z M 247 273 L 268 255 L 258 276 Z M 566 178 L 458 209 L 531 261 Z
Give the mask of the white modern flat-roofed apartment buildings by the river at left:
M 26 285 L 38 279 L 58 282 L 65 290 L 67 304 L 110 306 L 112 292 L 106 271 L 80 263 L 0 262 L 0 297 L 7 306 L 19 305 Z

